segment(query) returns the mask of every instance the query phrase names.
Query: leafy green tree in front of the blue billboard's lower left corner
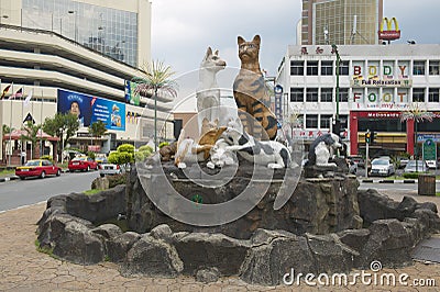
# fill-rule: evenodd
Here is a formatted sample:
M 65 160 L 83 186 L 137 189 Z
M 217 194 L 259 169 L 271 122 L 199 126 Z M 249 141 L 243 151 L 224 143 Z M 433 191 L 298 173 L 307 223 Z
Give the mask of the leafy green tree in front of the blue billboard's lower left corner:
M 61 139 L 62 149 L 58 148 L 58 157 L 65 144 L 72 138 L 79 128 L 78 117 L 72 113 L 56 113 L 54 117 L 46 117 L 43 124 L 43 131 Z M 64 137 L 66 137 L 64 139 Z M 62 157 L 63 159 L 63 157 Z

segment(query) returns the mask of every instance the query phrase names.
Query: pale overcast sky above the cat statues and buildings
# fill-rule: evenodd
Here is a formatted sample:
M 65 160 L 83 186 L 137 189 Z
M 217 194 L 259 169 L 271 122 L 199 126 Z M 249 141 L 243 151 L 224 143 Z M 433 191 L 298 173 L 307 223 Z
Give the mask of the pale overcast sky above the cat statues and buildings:
M 228 66 L 240 67 L 237 37 L 262 38 L 260 64 L 270 76 L 296 44 L 300 0 L 152 0 L 152 57 L 184 75 L 198 69 L 208 46 Z M 440 44 L 440 1 L 384 0 L 384 16 L 397 18 L 394 43 Z

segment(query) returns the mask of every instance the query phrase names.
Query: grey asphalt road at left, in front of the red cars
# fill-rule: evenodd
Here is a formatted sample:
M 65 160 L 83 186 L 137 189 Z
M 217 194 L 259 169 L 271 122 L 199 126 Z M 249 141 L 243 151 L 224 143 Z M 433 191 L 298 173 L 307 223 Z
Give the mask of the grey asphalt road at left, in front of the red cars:
M 0 212 L 46 201 L 56 194 L 90 190 L 98 171 L 62 173 L 45 179 L 29 178 L 0 182 Z

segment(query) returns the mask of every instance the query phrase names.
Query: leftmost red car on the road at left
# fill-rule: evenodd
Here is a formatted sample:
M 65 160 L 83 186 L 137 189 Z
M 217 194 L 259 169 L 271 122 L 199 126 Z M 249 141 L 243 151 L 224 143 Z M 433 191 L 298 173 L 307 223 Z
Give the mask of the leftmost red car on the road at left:
M 25 179 L 26 177 L 40 177 L 44 179 L 46 176 L 59 177 L 61 175 L 62 168 L 45 159 L 29 160 L 24 166 L 15 168 L 15 176 L 20 179 Z

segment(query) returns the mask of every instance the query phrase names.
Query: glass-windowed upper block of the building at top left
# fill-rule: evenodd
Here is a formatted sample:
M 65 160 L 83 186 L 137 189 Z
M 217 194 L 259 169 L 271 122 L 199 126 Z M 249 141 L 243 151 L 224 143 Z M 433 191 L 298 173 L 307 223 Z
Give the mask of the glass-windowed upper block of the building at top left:
M 20 1 L 0 0 L 0 10 L 6 15 L 3 23 L 20 19 L 16 24 L 23 27 L 58 33 L 133 67 L 141 66 L 143 58 L 148 60 L 151 3 L 147 0 L 95 3 L 22 0 L 20 5 Z

